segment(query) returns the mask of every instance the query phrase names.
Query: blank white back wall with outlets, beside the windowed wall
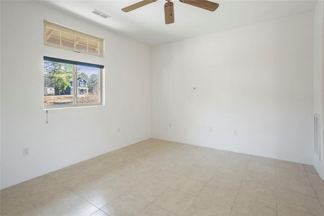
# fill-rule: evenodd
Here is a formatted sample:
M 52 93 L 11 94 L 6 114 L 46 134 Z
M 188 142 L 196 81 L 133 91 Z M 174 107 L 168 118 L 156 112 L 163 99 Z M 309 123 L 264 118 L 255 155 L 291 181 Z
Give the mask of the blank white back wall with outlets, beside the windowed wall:
M 153 47 L 153 138 L 313 164 L 312 46 L 307 12 Z

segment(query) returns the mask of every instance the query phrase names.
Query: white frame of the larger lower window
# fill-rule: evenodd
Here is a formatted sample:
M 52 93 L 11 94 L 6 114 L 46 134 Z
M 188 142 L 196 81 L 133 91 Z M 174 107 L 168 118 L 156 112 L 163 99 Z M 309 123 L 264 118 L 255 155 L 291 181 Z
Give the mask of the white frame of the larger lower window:
M 76 107 L 92 107 L 92 106 L 103 106 L 103 88 L 102 88 L 102 77 L 103 77 L 103 70 L 104 66 L 103 65 L 97 65 L 97 64 L 91 64 L 91 63 L 85 63 L 85 62 L 77 62 L 77 61 L 71 61 L 71 60 L 65 60 L 65 59 L 58 59 L 58 58 L 52 58 L 52 57 L 47 57 L 44 56 L 43 58 L 43 65 L 45 61 L 52 61 L 52 62 L 59 62 L 59 63 L 64 63 L 64 64 L 71 64 L 73 65 L 73 80 L 72 80 L 72 88 L 73 92 L 71 92 L 72 95 L 72 104 L 66 104 L 66 105 L 45 105 L 44 104 L 44 97 L 45 95 L 43 94 L 43 109 L 44 110 L 51 110 L 51 109 L 62 109 L 62 108 L 76 108 Z M 78 90 L 78 85 L 77 85 L 77 66 L 88 66 L 88 67 L 94 67 L 98 68 L 98 103 L 77 103 L 77 90 Z M 44 69 L 43 69 L 43 83 L 44 83 Z M 75 85 L 76 83 L 76 85 Z M 44 85 L 44 84 L 43 84 Z M 76 88 L 74 88 L 76 86 Z M 70 87 L 70 81 L 69 85 Z M 43 89 L 45 86 L 43 87 Z M 55 90 L 54 90 L 55 92 Z

